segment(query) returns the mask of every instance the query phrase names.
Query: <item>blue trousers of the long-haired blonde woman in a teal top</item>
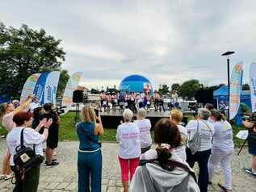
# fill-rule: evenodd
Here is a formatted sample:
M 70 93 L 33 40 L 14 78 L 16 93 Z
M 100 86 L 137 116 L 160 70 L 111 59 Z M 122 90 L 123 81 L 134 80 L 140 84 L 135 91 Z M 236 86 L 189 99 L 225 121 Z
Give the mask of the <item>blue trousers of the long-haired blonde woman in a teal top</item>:
M 102 153 L 78 152 L 78 192 L 100 192 Z

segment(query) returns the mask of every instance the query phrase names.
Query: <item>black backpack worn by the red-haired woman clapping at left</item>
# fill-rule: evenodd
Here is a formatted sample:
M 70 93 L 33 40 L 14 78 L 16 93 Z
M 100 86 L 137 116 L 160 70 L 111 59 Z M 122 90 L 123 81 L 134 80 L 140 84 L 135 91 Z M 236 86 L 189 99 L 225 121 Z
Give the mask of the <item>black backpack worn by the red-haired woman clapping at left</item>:
M 35 144 L 33 149 L 24 145 L 24 129 L 20 133 L 20 145 L 15 148 L 16 153 L 14 155 L 15 169 L 23 176 L 22 178 L 24 178 L 25 173 L 44 161 L 44 157 L 36 155 Z

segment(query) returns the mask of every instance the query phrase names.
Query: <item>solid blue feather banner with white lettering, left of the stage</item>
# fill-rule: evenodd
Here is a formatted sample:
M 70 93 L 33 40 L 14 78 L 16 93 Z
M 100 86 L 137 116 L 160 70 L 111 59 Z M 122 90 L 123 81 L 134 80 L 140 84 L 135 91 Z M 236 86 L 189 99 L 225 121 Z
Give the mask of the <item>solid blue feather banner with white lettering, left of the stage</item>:
M 34 94 L 35 97 L 39 99 L 40 104 L 44 104 L 44 86 L 45 86 L 45 82 L 46 79 L 48 77 L 49 72 L 44 72 L 41 73 L 38 81 L 36 82 L 36 86 L 35 86 L 35 90 L 34 90 Z

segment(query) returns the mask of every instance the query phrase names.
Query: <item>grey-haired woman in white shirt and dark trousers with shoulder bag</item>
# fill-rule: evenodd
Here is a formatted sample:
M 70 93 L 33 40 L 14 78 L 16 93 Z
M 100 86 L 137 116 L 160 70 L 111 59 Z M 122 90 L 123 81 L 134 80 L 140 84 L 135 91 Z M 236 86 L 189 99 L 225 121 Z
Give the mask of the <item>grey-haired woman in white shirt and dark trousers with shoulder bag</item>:
M 199 119 L 191 120 L 186 126 L 188 132 L 187 163 L 193 168 L 195 162 L 198 162 L 199 188 L 201 192 L 206 192 L 208 190 L 208 160 L 211 155 L 214 126 L 208 121 L 211 116 L 208 109 L 200 108 L 198 116 Z M 196 151 L 195 148 L 192 150 L 192 145 L 190 146 L 190 141 L 195 139 L 195 136 L 199 137 Z

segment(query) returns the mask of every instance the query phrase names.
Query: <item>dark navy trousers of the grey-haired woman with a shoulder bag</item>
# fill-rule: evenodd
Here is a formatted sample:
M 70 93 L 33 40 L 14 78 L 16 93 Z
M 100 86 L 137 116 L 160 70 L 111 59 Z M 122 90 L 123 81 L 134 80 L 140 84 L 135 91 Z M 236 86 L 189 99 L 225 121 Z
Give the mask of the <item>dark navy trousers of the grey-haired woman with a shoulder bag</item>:
M 195 162 L 198 162 L 199 165 L 199 175 L 198 175 L 198 186 L 201 192 L 208 191 L 208 160 L 211 155 L 211 149 L 208 149 L 203 152 L 195 152 L 193 155 L 191 149 L 186 148 L 187 153 L 187 163 L 193 169 Z

